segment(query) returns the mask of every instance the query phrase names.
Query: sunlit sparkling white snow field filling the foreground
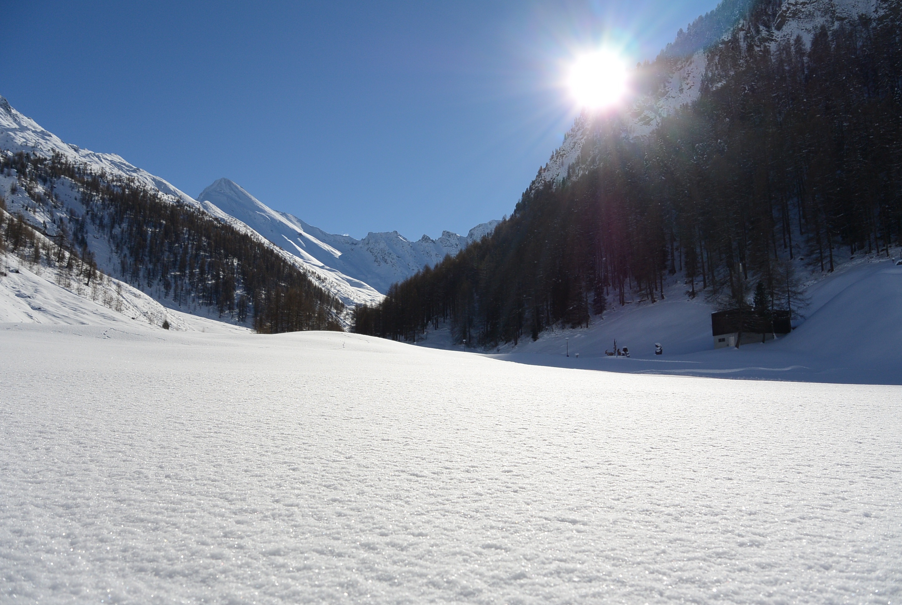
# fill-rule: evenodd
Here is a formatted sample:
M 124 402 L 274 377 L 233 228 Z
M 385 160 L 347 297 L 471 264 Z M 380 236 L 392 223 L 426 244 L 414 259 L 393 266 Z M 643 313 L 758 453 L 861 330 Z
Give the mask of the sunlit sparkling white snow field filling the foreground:
M 897 602 L 902 389 L 0 325 L 4 602 Z

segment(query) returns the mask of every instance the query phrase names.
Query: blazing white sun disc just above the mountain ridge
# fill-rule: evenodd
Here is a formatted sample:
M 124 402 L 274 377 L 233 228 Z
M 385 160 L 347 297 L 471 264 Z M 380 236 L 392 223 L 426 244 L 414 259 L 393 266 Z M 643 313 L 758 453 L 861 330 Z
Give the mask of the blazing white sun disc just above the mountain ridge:
M 570 66 L 567 87 L 576 103 L 598 110 L 621 100 L 627 91 L 626 64 L 611 50 L 595 50 L 576 58 Z

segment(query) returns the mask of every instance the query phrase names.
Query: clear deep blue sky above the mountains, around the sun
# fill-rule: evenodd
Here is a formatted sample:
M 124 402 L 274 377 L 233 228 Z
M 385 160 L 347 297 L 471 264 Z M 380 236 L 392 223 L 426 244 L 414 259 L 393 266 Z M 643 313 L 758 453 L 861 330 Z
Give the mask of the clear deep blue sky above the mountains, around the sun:
M 509 214 L 576 115 L 574 53 L 653 59 L 716 0 L 2 0 L 0 95 L 191 196 L 220 177 L 332 233 Z

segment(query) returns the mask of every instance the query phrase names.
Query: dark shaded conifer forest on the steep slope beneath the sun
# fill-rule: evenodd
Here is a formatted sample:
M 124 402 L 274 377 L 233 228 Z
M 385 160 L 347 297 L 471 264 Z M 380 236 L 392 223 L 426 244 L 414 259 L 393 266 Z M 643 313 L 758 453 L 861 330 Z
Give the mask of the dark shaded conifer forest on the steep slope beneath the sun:
M 412 338 L 446 321 L 470 344 L 585 325 L 668 276 L 723 306 L 790 308 L 794 263 L 902 238 L 902 23 L 881 1 L 810 42 L 781 39 L 779 0 L 706 50 L 698 100 L 648 136 L 594 118 L 579 170 L 524 194 L 490 238 L 358 307 L 356 330 Z M 667 73 L 662 53 L 643 68 Z M 653 81 L 654 78 L 649 78 Z

